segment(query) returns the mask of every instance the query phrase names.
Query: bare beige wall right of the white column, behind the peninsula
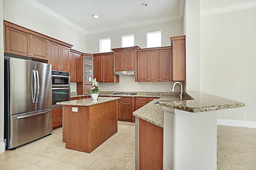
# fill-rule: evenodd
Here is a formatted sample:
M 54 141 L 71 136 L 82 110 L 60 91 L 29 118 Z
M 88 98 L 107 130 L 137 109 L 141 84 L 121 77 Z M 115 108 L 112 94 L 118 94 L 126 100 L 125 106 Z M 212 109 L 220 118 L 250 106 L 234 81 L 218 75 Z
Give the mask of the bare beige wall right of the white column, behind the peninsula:
M 256 121 L 256 8 L 201 16 L 201 91 L 244 102 L 218 119 Z

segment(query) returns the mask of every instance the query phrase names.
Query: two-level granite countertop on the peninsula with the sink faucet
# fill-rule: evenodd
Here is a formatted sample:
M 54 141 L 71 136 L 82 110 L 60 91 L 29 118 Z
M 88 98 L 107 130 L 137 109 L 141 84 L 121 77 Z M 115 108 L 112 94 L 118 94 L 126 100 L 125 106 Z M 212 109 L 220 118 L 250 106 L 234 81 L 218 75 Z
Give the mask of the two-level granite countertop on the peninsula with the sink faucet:
M 159 127 L 164 127 L 164 111 L 162 110 L 162 106 L 189 111 L 192 113 L 245 107 L 245 104 L 242 102 L 202 92 L 187 92 L 187 94 L 189 97 L 192 96 L 192 98 L 186 97 L 183 101 L 180 101 L 179 96 L 162 96 L 162 98 L 153 100 L 140 109 L 134 111 L 133 115 Z M 159 105 L 155 104 L 159 101 Z

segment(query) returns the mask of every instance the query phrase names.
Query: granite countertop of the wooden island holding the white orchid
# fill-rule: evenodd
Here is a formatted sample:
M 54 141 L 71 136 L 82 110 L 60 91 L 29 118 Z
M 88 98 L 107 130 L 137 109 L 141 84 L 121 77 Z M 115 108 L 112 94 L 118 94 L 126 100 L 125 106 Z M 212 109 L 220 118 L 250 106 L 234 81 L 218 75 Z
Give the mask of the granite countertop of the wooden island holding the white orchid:
M 98 97 L 97 100 L 92 100 L 92 98 L 88 99 L 80 99 L 80 100 L 71 100 L 66 102 L 58 102 L 57 104 L 61 105 L 70 105 L 70 106 L 91 106 L 94 104 L 100 104 L 104 102 L 109 102 L 112 100 L 118 100 L 119 97 Z

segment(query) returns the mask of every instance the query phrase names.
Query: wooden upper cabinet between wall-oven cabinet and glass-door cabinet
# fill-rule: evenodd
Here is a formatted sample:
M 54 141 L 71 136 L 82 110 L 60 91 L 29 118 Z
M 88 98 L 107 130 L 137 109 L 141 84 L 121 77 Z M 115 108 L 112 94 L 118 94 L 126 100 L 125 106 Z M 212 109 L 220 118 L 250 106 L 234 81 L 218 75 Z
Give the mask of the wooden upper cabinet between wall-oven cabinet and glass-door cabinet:
M 70 49 L 69 53 L 70 82 L 83 82 L 83 57 L 82 53 Z

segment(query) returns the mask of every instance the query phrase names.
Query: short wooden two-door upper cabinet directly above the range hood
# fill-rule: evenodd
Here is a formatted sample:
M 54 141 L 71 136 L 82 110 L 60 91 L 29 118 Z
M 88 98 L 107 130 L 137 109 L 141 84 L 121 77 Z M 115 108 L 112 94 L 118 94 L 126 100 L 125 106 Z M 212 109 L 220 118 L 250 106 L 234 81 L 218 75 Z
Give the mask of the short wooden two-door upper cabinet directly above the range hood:
M 112 49 L 114 51 L 115 71 L 132 71 L 136 68 L 137 49 L 140 47 L 126 47 Z

